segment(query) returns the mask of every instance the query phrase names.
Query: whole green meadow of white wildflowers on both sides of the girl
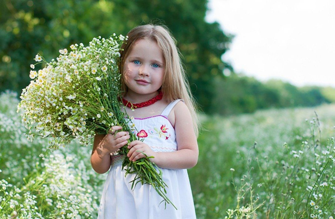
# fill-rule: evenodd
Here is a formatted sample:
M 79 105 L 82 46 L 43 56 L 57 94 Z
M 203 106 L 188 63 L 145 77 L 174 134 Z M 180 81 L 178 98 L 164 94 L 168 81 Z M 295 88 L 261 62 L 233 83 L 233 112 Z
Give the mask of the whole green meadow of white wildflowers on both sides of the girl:
M 17 95 L 0 102 L 0 218 L 96 218 L 107 173 L 91 168 L 91 146 L 44 157 L 48 139 L 26 139 Z M 188 170 L 197 218 L 334 217 L 334 104 L 201 120 Z

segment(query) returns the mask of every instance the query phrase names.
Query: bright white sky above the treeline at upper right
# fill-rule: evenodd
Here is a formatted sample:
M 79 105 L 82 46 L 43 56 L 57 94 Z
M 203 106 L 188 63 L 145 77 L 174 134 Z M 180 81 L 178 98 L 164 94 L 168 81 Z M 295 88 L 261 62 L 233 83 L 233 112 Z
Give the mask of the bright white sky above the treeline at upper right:
M 335 87 L 334 0 L 209 0 L 207 22 L 235 34 L 222 59 L 236 72 Z

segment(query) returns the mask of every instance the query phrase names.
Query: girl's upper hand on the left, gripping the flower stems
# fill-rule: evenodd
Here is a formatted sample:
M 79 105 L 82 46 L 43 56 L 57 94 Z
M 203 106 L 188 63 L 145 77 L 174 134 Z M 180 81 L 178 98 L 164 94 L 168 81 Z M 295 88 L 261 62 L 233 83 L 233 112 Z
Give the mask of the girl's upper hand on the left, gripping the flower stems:
M 113 126 L 108 134 L 105 135 L 103 141 L 106 141 L 106 149 L 111 153 L 119 150 L 121 147 L 125 146 L 128 143 L 130 138 L 128 132 L 118 132 L 115 134 L 116 130 L 121 130 L 121 126 Z

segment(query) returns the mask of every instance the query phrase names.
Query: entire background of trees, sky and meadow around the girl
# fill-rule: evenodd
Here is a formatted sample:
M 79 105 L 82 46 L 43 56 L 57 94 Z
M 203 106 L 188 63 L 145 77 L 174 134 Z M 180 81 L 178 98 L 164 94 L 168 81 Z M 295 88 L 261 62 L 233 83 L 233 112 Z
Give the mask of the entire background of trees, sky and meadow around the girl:
M 50 62 L 149 22 L 177 39 L 205 113 L 188 169 L 197 218 L 333 218 L 334 12 L 330 0 L 1 0 L 0 218 L 96 218 L 107 173 L 91 147 L 39 156 L 48 139 L 27 141 L 15 92 L 37 53 Z

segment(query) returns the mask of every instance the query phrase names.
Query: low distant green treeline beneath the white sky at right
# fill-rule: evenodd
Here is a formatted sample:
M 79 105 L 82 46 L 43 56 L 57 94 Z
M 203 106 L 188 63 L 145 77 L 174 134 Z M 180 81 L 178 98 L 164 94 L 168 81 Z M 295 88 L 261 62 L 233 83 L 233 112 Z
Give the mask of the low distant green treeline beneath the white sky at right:
M 258 109 L 294 106 L 315 106 L 333 102 L 335 89 L 295 87 L 281 80 L 262 83 L 253 77 L 233 74 L 226 79 L 215 78 L 211 114 L 253 113 Z M 332 99 L 333 97 L 333 99 Z

